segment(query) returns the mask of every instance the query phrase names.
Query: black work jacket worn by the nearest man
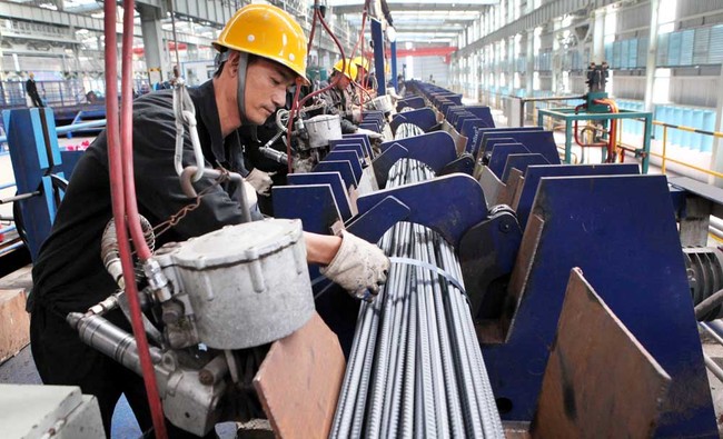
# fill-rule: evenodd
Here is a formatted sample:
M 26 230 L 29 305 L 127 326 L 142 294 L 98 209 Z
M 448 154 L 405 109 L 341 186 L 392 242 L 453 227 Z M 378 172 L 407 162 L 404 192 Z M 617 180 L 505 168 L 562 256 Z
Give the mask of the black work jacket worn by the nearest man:
M 189 94 L 196 107 L 198 136 L 206 166 L 246 174 L 238 132 L 222 138 L 214 83 L 208 81 Z M 138 209 L 155 227 L 195 199 L 184 194 L 174 167 L 176 126 L 171 90 L 145 94 L 133 101 L 133 167 Z M 184 164 L 195 162 L 188 130 Z M 202 178 L 197 192 L 212 186 Z M 156 247 L 181 241 L 241 221 L 239 203 L 230 196 L 235 184 L 216 186 L 168 232 Z M 60 204 L 50 237 L 43 242 L 32 269 L 29 308 L 42 305 L 60 313 L 85 311 L 118 289 L 100 257 L 103 229 L 112 218 L 106 131 L 78 161 Z

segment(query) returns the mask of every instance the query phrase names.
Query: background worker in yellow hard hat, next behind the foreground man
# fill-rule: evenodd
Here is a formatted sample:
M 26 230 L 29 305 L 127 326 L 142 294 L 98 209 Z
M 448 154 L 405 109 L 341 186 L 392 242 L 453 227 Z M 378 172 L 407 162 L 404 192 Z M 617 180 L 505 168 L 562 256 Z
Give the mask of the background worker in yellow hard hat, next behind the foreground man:
M 355 124 L 361 121 L 361 111 L 354 104 L 354 98 L 349 92 L 349 86 L 356 76 L 357 68 L 353 62 L 345 63 L 344 60 L 339 60 L 334 64 L 330 81 L 335 86 L 320 94 L 326 102 L 325 111 L 341 117 L 341 132 L 345 134 L 364 133 L 372 139 L 382 139 L 378 132 L 360 129 Z

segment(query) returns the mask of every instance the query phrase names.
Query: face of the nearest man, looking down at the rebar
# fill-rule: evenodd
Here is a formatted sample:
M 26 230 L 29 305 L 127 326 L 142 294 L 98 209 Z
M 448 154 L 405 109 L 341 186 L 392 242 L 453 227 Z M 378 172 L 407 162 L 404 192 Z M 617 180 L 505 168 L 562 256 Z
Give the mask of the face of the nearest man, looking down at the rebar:
M 263 124 L 278 108 L 286 104 L 286 90 L 294 84 L 296 76 L 288 68 L 257 58 L 246 69 L 246 118 Z

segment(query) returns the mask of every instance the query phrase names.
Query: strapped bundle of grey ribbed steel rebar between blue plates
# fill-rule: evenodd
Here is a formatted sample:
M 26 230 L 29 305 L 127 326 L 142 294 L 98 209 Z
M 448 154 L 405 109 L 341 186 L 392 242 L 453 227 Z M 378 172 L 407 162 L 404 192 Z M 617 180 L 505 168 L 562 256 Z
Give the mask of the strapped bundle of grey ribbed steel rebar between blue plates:
M 402 160 L 387 188 L 432 177 Z M 380 245 L 389 277 L 359 310 L 330 436 L 503 437 L 452 246 L 408 222 Z

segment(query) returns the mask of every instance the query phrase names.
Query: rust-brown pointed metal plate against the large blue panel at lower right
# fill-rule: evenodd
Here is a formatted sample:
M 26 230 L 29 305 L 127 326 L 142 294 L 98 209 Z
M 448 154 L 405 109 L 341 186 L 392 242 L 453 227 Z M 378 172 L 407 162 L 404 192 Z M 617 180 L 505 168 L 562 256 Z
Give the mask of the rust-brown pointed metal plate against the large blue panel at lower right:
M 671 378 L 572 270 L 533 438 L 650 438 Z

